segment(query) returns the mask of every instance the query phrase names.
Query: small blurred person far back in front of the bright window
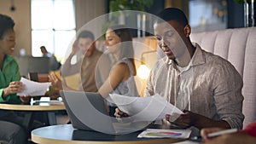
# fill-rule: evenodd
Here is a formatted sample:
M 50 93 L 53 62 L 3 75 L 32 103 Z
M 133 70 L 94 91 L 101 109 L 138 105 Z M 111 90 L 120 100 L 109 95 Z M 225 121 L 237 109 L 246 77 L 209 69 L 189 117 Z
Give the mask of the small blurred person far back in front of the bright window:
M 44 45 L 41 46 L 40 49 L 41 49 L 41 52 L 43 54 L 43 57 L 49 57 L 49 70 L 50 71 L 57 71 L 57 70 L 59 70 L 60 67 L 61 67 L 61 62 L 59 62 L 56 59 L 55 55 L 50 54 L 47 51 L 47 49 L 45 48 Z

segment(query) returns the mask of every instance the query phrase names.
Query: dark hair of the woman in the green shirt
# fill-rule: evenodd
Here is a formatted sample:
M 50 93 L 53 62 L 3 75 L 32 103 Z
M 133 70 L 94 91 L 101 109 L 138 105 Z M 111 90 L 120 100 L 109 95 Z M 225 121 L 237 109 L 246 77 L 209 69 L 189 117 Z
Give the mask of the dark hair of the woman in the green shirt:
M 3 38 L 5 32 L 13 30 L 15 26 L 15 21 L 9 16 L 0 14 L 0 39 Z

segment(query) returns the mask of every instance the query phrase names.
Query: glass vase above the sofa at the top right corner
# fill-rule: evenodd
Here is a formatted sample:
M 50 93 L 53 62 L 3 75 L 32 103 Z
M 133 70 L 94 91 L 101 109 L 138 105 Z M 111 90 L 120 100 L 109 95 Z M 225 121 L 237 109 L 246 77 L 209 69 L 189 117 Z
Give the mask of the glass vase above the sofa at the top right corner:
M 244 0 L 244 26 L 255 26 L 255 0 Z

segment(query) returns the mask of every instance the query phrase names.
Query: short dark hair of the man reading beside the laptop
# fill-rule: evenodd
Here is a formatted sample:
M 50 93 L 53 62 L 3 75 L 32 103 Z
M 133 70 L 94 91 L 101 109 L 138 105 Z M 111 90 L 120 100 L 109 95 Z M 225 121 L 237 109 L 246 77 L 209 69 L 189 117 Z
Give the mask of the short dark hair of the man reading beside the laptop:
M 183 26 L 186 26 L 189 24 L 186 14 L 184 14 L 181 9 L 167 8 L 162 10 L 159 14 L 157 14 L 157 16 L 160 17 L 160 19 L 165 21 L 176 20 Z M 163 21 L 156 20 L 156 23 L 160 23 L 160 22 L 163 22 Z

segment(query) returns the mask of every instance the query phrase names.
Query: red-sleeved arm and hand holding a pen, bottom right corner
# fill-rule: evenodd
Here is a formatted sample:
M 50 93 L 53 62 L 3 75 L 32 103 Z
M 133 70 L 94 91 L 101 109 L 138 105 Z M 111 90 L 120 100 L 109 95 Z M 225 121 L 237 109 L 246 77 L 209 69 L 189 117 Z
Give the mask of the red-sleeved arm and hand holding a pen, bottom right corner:
M 221 128 L 208 128 L 201 130 L 201 136 L 205 144 L 255 144 L 256 143 L 256 121 L 248 124 L 243 130 L 236 133 L 219 135 L 216 138 L 208 138 L 207 135 L 212 132 L 224 130 Z

